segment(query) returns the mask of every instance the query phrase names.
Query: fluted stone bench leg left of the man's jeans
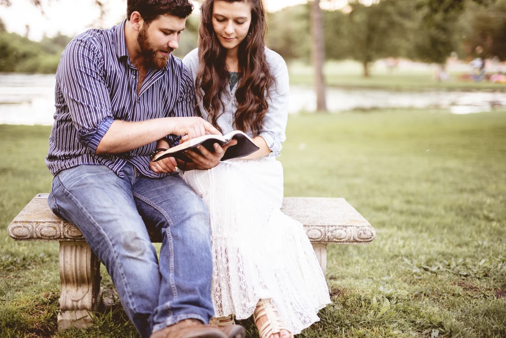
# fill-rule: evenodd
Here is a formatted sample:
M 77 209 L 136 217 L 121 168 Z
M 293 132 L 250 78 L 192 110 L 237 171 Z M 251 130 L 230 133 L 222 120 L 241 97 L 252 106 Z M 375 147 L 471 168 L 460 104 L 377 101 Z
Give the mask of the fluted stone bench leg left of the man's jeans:
M 60 241 L 61 297 L 58 330 L 93 324 L 102 294 L 100 262 L 85 241 Z

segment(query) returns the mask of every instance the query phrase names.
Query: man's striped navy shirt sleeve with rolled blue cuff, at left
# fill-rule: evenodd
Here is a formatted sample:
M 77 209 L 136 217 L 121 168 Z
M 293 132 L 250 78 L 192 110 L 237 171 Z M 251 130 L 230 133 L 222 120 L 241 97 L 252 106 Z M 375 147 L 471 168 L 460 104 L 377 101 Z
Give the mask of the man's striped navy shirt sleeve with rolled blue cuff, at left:
M 92 44 L 75 40 L 62 54 L 58 67 L 58 80 L 77 141 L 95 153 L 114 121 L 103 57 Z

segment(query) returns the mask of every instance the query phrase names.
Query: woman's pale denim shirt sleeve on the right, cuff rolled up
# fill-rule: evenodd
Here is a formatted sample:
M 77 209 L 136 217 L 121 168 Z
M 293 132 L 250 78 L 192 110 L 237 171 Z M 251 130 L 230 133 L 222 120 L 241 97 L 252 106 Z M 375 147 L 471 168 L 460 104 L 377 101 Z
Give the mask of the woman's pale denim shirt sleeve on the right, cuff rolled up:
M 288 68 L 284 60 L 279 60 L 272 66 L 275 79 L 274 86 L 269 90 L 269 110 L 264 116 L 260 136 L 264 138 L 271 153 L 269 156 L 278 157 L 281 151 L 281 143 L 286 140 L 285 130 L 288 120 Z

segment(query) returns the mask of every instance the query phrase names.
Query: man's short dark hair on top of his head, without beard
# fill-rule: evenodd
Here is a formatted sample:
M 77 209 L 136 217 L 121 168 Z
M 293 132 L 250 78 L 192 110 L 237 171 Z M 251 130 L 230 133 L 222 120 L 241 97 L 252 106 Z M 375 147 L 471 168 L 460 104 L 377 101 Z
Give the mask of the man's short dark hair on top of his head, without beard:
M 139 12 L 147 24 L 160 15 L 173 15 L 181 19 L 187 18 L 193 11 L 189 0 L 128 0 L 126 2 L 126 19 L 132 13 Z

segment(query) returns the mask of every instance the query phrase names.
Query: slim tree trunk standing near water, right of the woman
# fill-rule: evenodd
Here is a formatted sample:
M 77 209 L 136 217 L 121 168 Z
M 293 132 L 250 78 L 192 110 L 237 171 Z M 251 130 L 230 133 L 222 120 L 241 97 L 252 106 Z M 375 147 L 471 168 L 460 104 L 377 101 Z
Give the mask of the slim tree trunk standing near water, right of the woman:
M 325 46 L 323 44 L 323 19 L 320 0 L 314 0 L 312 7 L 311 33 L 313 35 L 313 66 L 315 70 L 316 110 L 326 112 L 325 80 L 323 78 L 323 61 L 325 60 Z

